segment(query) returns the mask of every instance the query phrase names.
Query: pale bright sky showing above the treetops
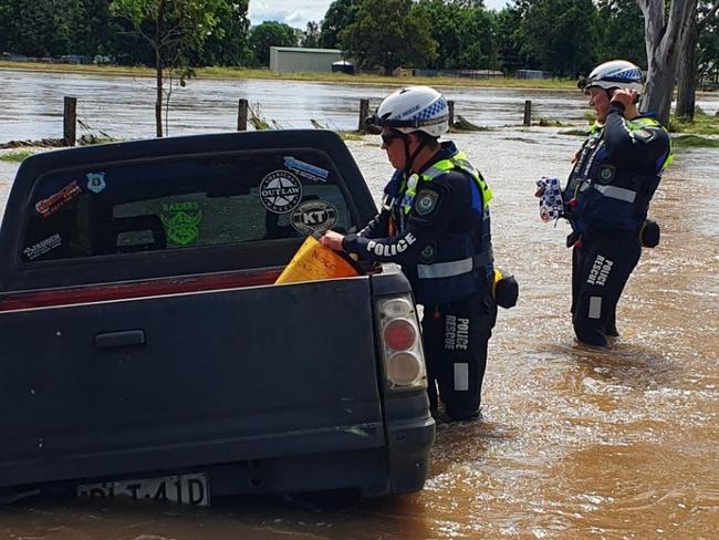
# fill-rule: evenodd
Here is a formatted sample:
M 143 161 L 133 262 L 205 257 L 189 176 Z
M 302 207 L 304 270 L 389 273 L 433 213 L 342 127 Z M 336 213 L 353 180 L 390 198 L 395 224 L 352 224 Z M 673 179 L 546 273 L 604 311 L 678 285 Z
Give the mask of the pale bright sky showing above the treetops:
M 508 0 L 484 0 L 489 9 L 502 9 Z M 304 30 L 308 21 L 320 22 L 332 0 L 250 0 L 250 22 L 280 21 Z

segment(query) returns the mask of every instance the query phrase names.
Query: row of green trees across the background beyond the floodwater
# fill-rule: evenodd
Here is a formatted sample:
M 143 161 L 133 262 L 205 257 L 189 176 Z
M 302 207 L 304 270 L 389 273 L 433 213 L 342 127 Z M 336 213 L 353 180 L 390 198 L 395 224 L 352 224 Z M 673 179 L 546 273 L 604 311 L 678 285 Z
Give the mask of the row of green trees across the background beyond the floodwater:
M 168 70 L 184 84 L 194 66 L 267 65 L 272 45 L 341 49 L 359 70 L 385 74 L 531 69 L 575 77 L 622 58 L 648 70 L 643 105 L 666 120 L 677 69 L 687 115 L 698 74 L 717 71 L 718 8 L 719 0 L 513 0 L 493 11 L 483 0 L 335 0 L 302 31 L 279 21 L 251 28 L 249 0 L 0 0 L 0 51 L 153 65 L 158 135 Z

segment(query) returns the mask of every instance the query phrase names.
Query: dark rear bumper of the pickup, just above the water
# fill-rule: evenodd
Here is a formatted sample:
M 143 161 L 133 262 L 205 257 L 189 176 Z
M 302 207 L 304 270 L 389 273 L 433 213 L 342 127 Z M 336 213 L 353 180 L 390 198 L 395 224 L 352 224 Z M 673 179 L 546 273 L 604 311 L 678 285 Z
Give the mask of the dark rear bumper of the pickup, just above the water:
M 210 497 L 335 489 L 355 489 L 365 497 L 382 497 L 421 489 L 428 470 L 429 449 L 435 438 L 434 419 L 428 417 L 395 422 L 386 426 L 386 434 L 388 438 L 385 445 L 376 447 L 344 449 L 333 445 L 330 440 L 332 437 L 329 437 L 322 451 L 315 449 L 301 455 L 275 454 L 273 457 L 191 467 L 167 468 L 166 464 L 165 467 L 152 470 L 140 467 L 136 461 L 133 471 L 112 476 L 87 475 L 83 471 L 83 475 L 70 476 L 77 479 L 50 482 L 40 480 L 8 487 L 0 490 L 0 495 L 34 491 L 38 495 L 73 496 L 77 484 L 91 480 L 142 479 L 184 472 L 207 474 Z M 292 444 L 282 447 L 285 451 L 298 449 Z M 82 481 L 80 476 L 83 477 Z

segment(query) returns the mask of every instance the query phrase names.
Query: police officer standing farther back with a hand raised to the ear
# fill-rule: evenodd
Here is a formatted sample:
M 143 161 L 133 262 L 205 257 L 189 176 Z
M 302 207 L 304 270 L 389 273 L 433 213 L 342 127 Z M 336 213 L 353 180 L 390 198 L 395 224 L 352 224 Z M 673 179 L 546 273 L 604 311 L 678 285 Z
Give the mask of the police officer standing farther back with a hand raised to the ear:
M 637 110 L 643 84 L 635 64 L 605 62 L 579 86 L 597 120 L 563 194 L 573 229 L 572 322 L 581 342 L 604 346 L 618 335 L 616 305 L 642 247 L 659 241 L 647 211 L 673 156 L 666 129 Z

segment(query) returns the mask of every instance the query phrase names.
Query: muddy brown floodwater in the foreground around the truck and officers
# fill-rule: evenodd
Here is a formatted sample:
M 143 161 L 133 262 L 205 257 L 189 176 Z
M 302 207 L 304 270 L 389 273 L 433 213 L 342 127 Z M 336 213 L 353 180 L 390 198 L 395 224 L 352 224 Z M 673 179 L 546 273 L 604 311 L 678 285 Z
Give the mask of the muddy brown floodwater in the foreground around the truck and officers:
M 539 176 L 566 177 L 581 139 L 454 138 L 494 191 L 497 264 L 521 297 L 490 341 L 483 419 L 439 425 L 423 492 L 323 512 L 257 498 L 206 510 L 24 501 L 0 510 L 0 538 L 718 538 L 719 152 L 682 152 L 665 175 L 652 211 L 661 243 L 629 280 L 622 336 L 597 351 L 573 339 L 567 227 L 543 224 L 533 197 Z M 348 146 L 378 198 L 390 173 L 378 137 Z M 3 167 L 0 214 L 15 168 Z

